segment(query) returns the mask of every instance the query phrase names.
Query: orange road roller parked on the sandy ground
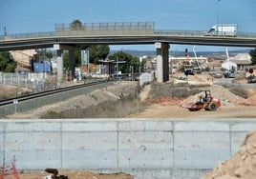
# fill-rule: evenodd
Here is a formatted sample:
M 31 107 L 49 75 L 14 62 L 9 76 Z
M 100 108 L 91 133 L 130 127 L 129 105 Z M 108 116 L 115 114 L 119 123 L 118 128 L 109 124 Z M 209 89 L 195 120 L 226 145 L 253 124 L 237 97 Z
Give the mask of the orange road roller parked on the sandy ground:
M 197 101 L 196 103 L 186 104 L 186 109 L 189 109 L 190 111 L 197 111 L 200 109 L 216 110 L 219 107 L 221 107 L 220 100 L 215 97 L 212 97 L 209 89 L 202 91 L 204 92 L 204 96 L 199 96 L 199 101 Z

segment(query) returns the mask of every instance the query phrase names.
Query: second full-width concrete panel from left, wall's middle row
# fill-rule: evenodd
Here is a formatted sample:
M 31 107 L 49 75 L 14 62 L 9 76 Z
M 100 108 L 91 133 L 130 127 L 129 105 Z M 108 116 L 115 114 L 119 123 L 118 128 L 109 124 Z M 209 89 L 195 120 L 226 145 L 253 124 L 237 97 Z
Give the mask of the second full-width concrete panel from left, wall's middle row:
M 62 134 L 62 149 L 117 149 L 117 132 L 64 132 Z

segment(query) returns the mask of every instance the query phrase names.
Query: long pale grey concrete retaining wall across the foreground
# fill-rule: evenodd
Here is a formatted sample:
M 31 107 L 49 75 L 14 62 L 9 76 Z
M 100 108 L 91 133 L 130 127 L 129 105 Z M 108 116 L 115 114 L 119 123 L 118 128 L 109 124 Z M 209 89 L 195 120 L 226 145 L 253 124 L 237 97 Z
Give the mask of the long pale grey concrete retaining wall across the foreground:
M 123 171 L 136 179 L 199 178 L 233 154 L 256 120 L 0 120 L 0 164 L 19 170 Z

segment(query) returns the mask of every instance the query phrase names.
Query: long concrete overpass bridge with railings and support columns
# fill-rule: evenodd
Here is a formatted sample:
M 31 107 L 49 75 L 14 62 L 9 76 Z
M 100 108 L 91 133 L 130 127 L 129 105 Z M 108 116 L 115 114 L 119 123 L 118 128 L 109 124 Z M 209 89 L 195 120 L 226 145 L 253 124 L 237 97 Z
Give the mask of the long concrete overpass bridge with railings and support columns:
M 256 33 L 236 36 L 206 36 L 205 30 L 155 30 L 153 22 L 56 24 L 54 31 L 4 35 L 0 50 L 54 48 L 57 50 L 58 79 L 63 75 L 63 50 L 69 50 L 70 69 L 75 70 L 75 48 L 89 45 L 155 44 L 158 81 L 169 80 L 171 44 L 256 48 Z

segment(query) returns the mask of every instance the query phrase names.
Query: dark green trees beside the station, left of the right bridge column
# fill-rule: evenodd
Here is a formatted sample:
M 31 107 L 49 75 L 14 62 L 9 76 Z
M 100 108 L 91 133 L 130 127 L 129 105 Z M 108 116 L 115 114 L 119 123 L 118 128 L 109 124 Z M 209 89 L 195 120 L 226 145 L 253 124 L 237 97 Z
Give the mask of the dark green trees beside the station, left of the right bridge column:
M 110 60 L 115 61 L 125 61 L 124 64 L 121 64 L 118 66 L 118 70 L 120 70 L 122 73 L 128 73 L 130 72 L 130 67 L 134 68 L 134 72 L 139 72 L 139 67 L 142 65 L 139 65 L 139 58 L 132 56 L 129 53 L 126 53 L 124 51 L 117 51 L 109 56 Z

